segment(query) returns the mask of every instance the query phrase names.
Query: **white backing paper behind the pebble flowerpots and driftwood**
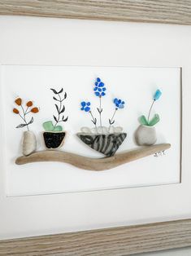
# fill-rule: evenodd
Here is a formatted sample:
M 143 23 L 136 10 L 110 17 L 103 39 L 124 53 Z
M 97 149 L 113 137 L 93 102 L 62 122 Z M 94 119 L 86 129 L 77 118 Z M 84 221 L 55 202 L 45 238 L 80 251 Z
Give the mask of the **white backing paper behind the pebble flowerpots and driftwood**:
M 99 99 L 93 93 L 96 77 L 106 85 L 106 96 L 102 98 L 102 124 L 108 126 L 112 116 L 115 97 L 124 99 L 125 108 L 115 116 L 115 126 L 122 126 L 128 136 L 118 152 L 137 147 L 134 132 L 139 126 L 138 117 L 147 117 L 155 90 L 163 92 L 155 102 L 151 117 L 158 113 L 161 121 L 155 126 L 157 143 L 171 143 L 171 149 L 163 157 L 145 157 L 112 170 L 102 172 L 80 170 L 74 166 L 57 162 L 31 163 L 16 166 L 15 158 L 22 152 L 22 135 L 25 129 L 15 129 L 22 123 L 12 113 L 20 96 L 24 104 L 34 100 L 40 112 L 33 115 L 30 126 L 37 136 L 37 150 L 45 149 L 42 139 L 42 123 L 56 115 L 53 92 L 50 88 L 67 91 L 63 123 L 67 138 L 62 150 L 86 157 L 103 157 L 77 138 L 80 127 L 93 127 L 89 113 L 80 110 L 80 102 L 90 101 L 92 113 L 98 118 Z M 7 171 L 7 195 L 45 194 L 76 192 L 108 188 L 129 188 L 180 182 L 180 68 L 128 68 L 128 67 L 72 67 L 72 66 L 2 66 L 2 108 L 4 109 L 5 145 Z M 19 108 L 20 109 L 20 108 Z M 30 115 L 29 115 L 30 116 Z M 98 118 L 99 119 L 99 118 Z M 28 117 L 28 121 L 30 118 Z

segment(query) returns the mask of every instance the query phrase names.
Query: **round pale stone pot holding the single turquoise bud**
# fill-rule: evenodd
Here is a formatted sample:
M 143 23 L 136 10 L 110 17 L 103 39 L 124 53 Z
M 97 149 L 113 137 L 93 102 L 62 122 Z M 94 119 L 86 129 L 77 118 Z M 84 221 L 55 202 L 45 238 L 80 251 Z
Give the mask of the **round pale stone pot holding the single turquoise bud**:
M 141 125 L 135 132 L 135 140 L 139 146 L 150 146 L 157 141 L 157 134 L 154 126 Z

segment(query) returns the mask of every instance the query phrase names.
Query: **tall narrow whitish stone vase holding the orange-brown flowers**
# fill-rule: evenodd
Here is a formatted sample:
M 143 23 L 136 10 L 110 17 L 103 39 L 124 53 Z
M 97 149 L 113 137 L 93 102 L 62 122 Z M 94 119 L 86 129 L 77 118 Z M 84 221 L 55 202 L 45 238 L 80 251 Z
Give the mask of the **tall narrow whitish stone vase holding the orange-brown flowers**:
M 37 149 L 37 139 L 33 131 L 26 130 L 24 131 L 23 137 L 23 154 L 28 156 L 31 153 L 35 152 Z

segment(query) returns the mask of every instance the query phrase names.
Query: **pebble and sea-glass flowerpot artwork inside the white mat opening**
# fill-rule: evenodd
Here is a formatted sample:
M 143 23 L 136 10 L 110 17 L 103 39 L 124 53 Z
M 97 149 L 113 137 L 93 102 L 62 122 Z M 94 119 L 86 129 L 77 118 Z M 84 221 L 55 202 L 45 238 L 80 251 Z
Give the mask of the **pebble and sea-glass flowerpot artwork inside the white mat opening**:
M 180 68 L 2 65 L 1 74 L 7 196 L 180 183 Z

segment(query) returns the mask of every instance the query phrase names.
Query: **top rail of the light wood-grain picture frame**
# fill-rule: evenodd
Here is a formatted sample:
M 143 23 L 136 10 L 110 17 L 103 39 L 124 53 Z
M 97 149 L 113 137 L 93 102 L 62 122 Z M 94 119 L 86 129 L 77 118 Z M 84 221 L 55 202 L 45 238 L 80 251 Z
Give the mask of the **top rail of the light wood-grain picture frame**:
M 191 24 L 188 0 L 0 0 L 1 15 Z

